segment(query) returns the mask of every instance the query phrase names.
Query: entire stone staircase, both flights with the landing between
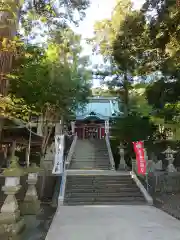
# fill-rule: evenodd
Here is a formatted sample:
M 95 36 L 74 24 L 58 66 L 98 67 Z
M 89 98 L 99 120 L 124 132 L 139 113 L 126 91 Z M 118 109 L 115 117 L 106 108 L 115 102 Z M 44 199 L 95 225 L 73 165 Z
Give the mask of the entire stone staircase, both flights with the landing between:
M 145 203 L 130 173 L 112 170 L 105 140 L 77 140 L 66 175 L 64 205 Z

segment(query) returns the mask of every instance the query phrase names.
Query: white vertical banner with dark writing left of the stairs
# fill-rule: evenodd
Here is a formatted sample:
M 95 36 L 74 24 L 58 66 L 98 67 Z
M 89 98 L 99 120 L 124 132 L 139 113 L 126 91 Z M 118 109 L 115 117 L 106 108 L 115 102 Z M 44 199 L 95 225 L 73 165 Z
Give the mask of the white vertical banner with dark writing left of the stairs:
M 63 173 L 64 135 L 55 136 L 55 159 L 52 174 Z

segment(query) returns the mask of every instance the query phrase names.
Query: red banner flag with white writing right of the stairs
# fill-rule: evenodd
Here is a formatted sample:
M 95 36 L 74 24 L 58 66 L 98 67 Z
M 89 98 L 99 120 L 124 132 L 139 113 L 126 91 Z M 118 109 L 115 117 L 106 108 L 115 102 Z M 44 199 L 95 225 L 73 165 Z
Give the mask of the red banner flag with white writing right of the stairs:
M 145 175 L 146 174 L 146 160 L 145 160 L 143 142 L 142 141 L 133 142 L 133 146 L 134 146 L 134 151 L 136 153 L 138 174 Z

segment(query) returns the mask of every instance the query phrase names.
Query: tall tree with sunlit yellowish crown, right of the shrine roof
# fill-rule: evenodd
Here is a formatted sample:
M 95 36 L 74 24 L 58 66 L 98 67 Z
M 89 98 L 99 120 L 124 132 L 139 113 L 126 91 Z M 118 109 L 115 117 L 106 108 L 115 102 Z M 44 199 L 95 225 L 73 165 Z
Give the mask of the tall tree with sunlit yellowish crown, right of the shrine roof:
M 130 1 L 120 0 L 115 7 L 111 20 L 103 20 L 95 25 L 96 49 L 110 62 L 108 85 L 119 88 L 124 100 L 125 115 L 129 111 L 129 90 L 133 77 L 140 72 L 139 62 L 144 52 L 146 27 L 142 13 L 132 10 Z M 139 69 L 139 71 L 137 71 Z M 141 68 L 142 70 L 142 68 Z

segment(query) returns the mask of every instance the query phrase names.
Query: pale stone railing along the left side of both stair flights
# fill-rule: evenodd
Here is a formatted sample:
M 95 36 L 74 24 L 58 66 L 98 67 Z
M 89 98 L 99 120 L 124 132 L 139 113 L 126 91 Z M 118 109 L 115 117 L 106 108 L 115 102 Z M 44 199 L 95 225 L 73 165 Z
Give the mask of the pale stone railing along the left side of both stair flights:
M 74 136 L 74 139 L 73 139 L 73 142 L 71 144 L 67 159 L 66 159 L 65 164 L 64 164 L 64 172 L 63 172 L 62 178 L 61 178 L 60 193 L 59 193 L 59 198 L 58 198 L 58 204 L 59 205 L 63 205 L 64 194 L 65 194 L 65 186 L 66 186 L 66 176 L 67 176 L 66 169 L 69 168 L 69 165 L 71 163 L 72 156 L 73 156 L 75 146 L 76 146 L 76 142 L 77 142 L 77 135 Z

